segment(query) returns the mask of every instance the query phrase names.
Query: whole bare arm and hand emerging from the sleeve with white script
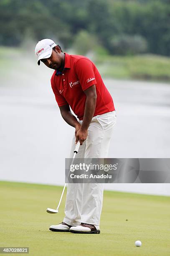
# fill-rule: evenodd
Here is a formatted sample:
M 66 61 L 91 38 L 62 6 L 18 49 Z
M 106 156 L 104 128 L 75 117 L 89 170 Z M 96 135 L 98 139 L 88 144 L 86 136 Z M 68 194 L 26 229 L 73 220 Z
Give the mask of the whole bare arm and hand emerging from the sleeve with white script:
M 86 94 L 84 118 L 79 131 L 76 132 L 76 143 L 80 141 L 80 145 L 82 145 L 87 138 L 87 129 L 91 123 L 96 108 L 97 95 L 95 84 L 85 90 L 84 93 Z

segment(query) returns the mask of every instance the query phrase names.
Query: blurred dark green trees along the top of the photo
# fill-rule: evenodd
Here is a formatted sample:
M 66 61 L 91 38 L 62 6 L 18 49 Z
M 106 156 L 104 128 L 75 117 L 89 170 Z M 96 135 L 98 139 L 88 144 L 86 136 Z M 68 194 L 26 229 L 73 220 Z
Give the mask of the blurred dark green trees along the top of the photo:
M 1 0 L 0 45 L 20 46 L 25 38 L 170 56 L 170 0 Z

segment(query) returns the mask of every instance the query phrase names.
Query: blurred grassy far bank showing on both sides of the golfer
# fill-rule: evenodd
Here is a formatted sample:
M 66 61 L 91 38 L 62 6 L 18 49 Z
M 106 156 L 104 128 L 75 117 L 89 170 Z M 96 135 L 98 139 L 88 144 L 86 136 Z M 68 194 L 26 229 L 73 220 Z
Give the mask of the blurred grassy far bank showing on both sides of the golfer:
M 25 79 L 28 79 L 28 74 L 35 75 L 36 57 L 33 49 L 1 46 L 0 56 L 0 76 L 1 79 L 5 79 L 3 81 L 5 85 L 6 76 L 17 83 L 19 74 L 23 74 Z M 94 62 L 102 77 L 170 82 L 170 58 L 168 57 L 152 54 L 98 55 L 94 58 Z

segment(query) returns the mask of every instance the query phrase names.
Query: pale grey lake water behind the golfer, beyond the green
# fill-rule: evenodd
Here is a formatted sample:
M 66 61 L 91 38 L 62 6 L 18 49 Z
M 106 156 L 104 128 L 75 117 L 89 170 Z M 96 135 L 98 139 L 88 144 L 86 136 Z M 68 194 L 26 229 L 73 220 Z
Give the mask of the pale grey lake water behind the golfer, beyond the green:
M 51 70 L 42 70 L 30 78 L 16 75 L 15 84 L 0 87 L 0 180 L 65 182 L 74 128 L 61 118 L 49 83 Z M 109 157 L 169 158 L 170 85 L 113 79 L 104 83 L 117 112 Z M 105 184 L 105 189 L 170 195 L 169 184 Z

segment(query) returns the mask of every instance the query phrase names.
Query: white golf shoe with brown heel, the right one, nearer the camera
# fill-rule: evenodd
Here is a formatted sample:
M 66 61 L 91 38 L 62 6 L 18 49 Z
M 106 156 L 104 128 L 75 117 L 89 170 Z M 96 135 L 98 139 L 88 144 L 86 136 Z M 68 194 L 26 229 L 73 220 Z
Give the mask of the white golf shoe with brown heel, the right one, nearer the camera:
M 69 231 L 79 234 L 100 234 L 99 226 L 86 223 L 81 223 L 76 227 L 72 226 Z

